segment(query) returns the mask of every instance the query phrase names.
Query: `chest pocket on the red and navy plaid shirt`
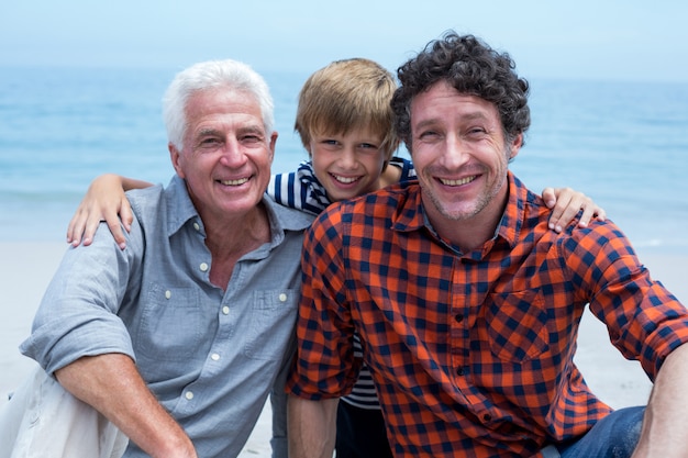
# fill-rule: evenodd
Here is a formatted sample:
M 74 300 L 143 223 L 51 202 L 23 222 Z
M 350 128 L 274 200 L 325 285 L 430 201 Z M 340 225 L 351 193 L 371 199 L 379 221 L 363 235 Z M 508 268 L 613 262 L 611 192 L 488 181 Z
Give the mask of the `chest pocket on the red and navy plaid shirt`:
M 489 299 L 485 319 L 495 356 L 526 362 L 548 350 L 547 312 L 539 291 L 492 293 Z

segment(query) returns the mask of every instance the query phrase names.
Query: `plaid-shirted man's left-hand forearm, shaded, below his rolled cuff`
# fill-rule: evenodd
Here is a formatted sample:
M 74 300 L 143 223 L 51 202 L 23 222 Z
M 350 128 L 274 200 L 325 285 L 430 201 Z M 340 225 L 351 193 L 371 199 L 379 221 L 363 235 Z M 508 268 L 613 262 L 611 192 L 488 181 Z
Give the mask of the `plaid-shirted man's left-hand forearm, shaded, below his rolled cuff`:
M 332 458 L 339 399 L 309 401 L 289 396 L 289 458 Z

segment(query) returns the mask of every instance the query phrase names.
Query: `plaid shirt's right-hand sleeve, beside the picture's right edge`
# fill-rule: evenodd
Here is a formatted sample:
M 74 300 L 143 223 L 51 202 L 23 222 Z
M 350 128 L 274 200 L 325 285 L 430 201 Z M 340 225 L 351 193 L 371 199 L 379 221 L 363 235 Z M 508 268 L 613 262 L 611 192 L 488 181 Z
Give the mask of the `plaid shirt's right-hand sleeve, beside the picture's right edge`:
M 611 222 L 577 231 L 562 247 L 561 259 L 589 295 L 590 311 L 607 325 L 611 343 L 654 381 L 664 359 L 688 342 L 684 304 L 651 277 Z

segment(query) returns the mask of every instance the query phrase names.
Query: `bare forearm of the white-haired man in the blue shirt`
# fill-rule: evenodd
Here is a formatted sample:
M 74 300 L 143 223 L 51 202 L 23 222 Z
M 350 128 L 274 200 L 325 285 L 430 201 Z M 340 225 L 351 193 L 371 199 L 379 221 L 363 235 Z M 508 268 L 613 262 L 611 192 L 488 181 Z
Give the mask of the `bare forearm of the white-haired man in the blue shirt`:
M 152 457 L 196 457 L 193 444 L 122 354 L 84 357 L 57 370 L 59 383 Z

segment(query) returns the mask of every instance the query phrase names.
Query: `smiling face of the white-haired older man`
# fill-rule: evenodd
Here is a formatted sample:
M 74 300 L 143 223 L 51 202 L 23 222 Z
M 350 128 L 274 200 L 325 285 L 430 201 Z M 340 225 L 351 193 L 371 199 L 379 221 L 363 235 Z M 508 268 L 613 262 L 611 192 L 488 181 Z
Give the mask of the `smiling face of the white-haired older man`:
M 243 217 L 257 208 L 270 179 L 277 134 L 267 136 L 260 108 L 244 92 L 195 92 L 186 105 L 184 148 L 169 145 L 199 214 L 212 221 Z

